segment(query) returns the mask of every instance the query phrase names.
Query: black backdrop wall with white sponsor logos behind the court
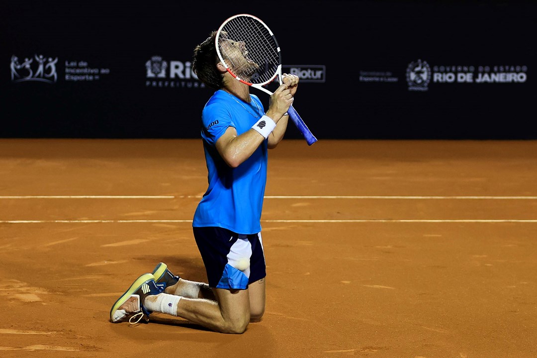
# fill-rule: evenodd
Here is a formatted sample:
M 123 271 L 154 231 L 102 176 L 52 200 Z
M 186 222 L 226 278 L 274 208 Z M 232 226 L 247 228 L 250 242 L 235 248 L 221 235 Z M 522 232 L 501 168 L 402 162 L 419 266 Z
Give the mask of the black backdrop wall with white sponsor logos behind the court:
M 197 138 L 192 49 L 251 13 L 320 140 L 537 139 L 536 3 L 3 0 L 0 137 Z

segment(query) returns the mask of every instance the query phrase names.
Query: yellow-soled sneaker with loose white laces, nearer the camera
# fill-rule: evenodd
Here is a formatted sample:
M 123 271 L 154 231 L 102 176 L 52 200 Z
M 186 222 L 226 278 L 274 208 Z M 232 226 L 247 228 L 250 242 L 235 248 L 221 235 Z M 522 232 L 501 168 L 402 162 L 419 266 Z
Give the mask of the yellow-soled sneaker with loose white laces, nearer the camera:
M 110 310 L 110 321 L 113 323 L 121 322 L 125 317 L 130 316 L 129 323 L 135 324 L 140 322 L 142 318 L 149 321 L 149 315 L 151 312 L 146 310 L 143 306 L 143 300 L 148 295 L 158 295 L 162 293 L 165 288 L 164 283 L 156 283 L 155 276 L 150 273 L 141 275 L 130 285 L 129 289 L 119 297 L 118 301 L 112 305 Z M 134 318 L 138 318 L 133 322 Z

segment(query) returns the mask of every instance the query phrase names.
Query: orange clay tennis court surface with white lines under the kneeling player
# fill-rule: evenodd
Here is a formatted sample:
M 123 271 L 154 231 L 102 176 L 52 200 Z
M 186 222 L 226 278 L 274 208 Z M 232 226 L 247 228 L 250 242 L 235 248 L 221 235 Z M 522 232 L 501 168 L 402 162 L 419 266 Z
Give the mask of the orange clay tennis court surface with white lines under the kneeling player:
M 537 356 L 537 142 L 270 151 L 267 305 L 242 335 L 111 305 L 166 262 L 205 281 L 200 140 L 0 140 L 1 357 Z

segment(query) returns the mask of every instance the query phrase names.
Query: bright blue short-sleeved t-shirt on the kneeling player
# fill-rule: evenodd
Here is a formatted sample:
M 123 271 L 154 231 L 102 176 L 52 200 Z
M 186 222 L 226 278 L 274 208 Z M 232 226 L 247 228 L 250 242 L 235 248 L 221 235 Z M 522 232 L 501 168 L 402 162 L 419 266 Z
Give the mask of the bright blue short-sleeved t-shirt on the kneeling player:
M 261 231 L 261 210 L 267 174 L 267 140 L 241 165 L 232 168 L 216 150 L 216 141 L 228 127 L 237 135 L 252 128 L 264 115 L 259 98 L 250 104 L 218 90 L 201 114 L 208 188 L 194 213 L 193 227 L 220 227 L 242 234 Z M 257 116 L 257 117 L 256 117 Z

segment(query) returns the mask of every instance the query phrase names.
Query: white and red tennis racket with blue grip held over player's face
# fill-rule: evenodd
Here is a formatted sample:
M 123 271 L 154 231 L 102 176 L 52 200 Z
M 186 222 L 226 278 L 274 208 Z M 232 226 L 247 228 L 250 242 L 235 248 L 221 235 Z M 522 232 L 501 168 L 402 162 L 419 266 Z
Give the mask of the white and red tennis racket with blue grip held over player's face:
M 257 17 L 249 14 L 230 17 L 218 29 L 215 42 L 220 61 L 238 81 L 268 94 L 272 92 L 263 86 L 276 78 L 281 85 L 280 47 L 270 28 Z M 293 106 L 287 113 L 308 145 L 317 142 Z

